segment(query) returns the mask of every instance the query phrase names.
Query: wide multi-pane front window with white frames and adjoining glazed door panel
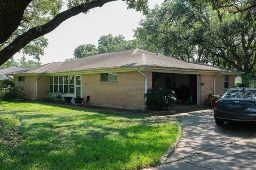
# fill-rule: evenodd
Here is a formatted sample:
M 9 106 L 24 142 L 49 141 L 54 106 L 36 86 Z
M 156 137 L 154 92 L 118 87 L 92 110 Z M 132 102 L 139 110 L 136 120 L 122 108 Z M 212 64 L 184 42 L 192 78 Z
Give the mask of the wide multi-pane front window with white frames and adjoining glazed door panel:
M 50 92 L 62 92 L 81 96 L 81 76 L 64 75 L 50 77 Z M 76 91 L 75 91 L 76 87 Z

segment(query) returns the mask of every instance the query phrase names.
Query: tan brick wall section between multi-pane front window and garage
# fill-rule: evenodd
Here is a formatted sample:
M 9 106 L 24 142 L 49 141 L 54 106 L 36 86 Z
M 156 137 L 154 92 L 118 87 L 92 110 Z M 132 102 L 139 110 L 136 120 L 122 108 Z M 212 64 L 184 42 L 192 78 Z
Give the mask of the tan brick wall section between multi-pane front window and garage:
M 151 72 L 148 89 L 152 86 Z M 145 109 L 145 79 L 138 72 L 117 73 L 117 82 L 100 82 L 100 74 L 83 75 L 83 97 L 90 96 L 93 105 Z

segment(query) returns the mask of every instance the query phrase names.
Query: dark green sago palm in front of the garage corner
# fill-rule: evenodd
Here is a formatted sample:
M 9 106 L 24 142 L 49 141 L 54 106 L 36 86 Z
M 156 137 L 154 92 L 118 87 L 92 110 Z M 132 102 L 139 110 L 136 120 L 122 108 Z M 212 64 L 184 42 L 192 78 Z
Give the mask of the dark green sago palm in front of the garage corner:
M 146 108 L 150 111 L 162 111 L 163 108 L 173 107 L 176 101 L 173 90 L 161 88 L 158 85 L 148 90 L 145 95 Z

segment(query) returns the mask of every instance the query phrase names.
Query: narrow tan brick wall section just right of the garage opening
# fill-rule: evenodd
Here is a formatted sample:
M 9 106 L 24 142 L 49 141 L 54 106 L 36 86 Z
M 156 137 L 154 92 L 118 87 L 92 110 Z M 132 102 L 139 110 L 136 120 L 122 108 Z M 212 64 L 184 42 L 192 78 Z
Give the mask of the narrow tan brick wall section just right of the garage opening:
M 213 74 L 201 74 L 200 82 L 204 83 L 203 86 L 202 84 L 200 84 L 200 104 L 205 105 L 205 99 L 207 99 L 207 95 L 209 95 L 210 93 L 212 94 L 213 91 Z M 212 88 L 212 91 L 210 87 Z

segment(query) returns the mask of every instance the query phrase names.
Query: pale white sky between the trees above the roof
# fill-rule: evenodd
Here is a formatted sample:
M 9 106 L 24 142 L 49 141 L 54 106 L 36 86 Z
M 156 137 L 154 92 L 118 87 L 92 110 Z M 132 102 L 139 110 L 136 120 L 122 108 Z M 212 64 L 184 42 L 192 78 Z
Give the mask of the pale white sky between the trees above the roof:
M 161 4 L 164 0 L 148 0 L 149 7 Z M 98 45 L 98 39 L 109 33 L 114 36 L 123 35 L 126 40 L 134 39 L 133 29 L 139 26 L 142 13 L 127 10 L 124 1 L 110 2 L 102 7 L 94 8 L 87 14 L 79 14 L 63 22 L 58 28 L 45 35 L 48 46 L 41 56 L 42 64 L 64 61 L 74 57 L 73 53 L 81 44 Z M 22 54 L 16 54 L 15 59 Z M 33 57 L 26 56 L 31 60 Z

